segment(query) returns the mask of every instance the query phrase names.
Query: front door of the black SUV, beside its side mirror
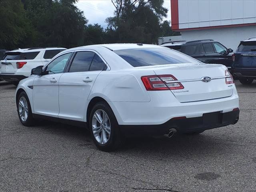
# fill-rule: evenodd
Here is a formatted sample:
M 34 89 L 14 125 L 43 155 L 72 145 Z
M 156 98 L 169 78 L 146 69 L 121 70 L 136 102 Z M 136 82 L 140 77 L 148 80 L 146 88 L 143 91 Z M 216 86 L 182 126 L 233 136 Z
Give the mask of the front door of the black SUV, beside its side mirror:
M 228 49 L 219 42 L 213 42 L 212 45 L 216 53 L 214 63 L 222 64 L 225 65 L 227 68 L 231 68 L 232 56 L 228 53 Z

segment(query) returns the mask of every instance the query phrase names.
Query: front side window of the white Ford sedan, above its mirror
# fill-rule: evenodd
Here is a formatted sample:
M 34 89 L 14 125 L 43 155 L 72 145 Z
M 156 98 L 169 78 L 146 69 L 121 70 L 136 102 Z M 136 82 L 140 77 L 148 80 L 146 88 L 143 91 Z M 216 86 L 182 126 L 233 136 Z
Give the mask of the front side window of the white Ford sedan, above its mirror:
M 49 74 L 52 73 L 63 73 L 64 68 L 68 62 L 68 59 L 70 58 L 72 53 L 66 53 L 63 54 L 56 59 L 54 59 L 48 66 L 46 66 L 46 71 L 49 72 Z

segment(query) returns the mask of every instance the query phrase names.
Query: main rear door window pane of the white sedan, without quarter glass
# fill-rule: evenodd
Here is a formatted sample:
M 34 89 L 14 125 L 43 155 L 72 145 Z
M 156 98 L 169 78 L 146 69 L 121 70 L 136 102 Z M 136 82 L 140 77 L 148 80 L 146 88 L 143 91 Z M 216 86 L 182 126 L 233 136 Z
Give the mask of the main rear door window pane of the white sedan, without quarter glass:
M 90 51 L 77 52 L 69 72 L 88 71 L 95 53 Z

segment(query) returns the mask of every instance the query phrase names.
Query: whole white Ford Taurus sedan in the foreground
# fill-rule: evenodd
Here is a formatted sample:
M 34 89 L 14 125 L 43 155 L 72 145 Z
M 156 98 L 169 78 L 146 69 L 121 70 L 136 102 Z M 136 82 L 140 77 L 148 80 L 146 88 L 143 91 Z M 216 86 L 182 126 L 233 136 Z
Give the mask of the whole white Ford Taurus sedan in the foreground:
M 72 48 L 32 74 L 16 90 L 21 123 L 47 118 L 88 127 L 104 151 L 116 149 L 127 136 L 196 134 L 239 118 L 226 66 L 161 46 Z

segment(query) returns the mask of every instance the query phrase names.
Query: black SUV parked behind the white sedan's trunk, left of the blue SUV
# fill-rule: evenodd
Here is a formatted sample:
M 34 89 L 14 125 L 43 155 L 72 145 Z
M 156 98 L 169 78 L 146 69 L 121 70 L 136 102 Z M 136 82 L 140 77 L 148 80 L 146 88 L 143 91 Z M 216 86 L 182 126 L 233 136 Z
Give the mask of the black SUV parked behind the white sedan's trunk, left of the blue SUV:
M 232 49 L 227 49 L 221 43 L 212 39 L 196 41 L 173 41 L 161 44 L 168 48 L 180 51 L 204 63 L 223 64 L 231 68 Z

